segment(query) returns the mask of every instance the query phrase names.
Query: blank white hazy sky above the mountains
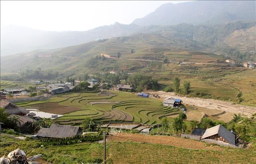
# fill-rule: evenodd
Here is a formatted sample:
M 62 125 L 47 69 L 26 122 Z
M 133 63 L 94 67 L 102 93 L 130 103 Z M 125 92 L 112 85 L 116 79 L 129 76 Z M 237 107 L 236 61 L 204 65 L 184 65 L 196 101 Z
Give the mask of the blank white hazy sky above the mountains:
M 159 1 L 3 1 L 1 24 L 12 24 L 49 31 L 84 31 L 111 25 L 130 24 L 164 3 L 188 0 Z

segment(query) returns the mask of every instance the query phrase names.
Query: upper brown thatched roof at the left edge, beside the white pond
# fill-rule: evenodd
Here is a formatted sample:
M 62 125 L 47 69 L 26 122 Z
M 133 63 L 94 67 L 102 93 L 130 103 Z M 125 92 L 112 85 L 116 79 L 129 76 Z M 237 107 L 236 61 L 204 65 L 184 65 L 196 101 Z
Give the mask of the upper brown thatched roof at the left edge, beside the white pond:
M 16 114 L 16 115 L 27 115 L 29 113 L 28 110 L 18 107 L 14 103 L 10 103 L 6 100 L 1 100 L 0 101 L 0 107 L 5 109 L 5 112 L 7 112 L 9 115 L 11 114 Z

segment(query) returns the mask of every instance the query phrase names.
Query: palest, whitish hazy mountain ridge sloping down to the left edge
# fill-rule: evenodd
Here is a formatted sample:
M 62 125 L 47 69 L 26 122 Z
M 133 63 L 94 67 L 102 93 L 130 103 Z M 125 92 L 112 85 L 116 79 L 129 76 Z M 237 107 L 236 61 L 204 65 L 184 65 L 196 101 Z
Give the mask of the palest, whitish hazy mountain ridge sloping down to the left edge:
M 115 23 L 88 31 L 42 31 L 15 25 L 1 26 L 1 56 L 83 44 L 96 39 L 128 36 L 139 27 Z

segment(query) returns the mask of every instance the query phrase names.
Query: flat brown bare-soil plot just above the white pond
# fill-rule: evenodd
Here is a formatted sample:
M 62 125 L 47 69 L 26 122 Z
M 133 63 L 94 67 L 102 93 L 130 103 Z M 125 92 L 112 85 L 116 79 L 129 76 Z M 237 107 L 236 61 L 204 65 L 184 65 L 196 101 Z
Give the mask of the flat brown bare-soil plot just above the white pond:
M 30 105 L 30 108 L 38 109 L 42 112 L 54 113 L 54 114 L 60 114 L 60 115 L 67 112 L 82 110 L 81 108 L 78 108 L 78 107 L 64 106 L 56 102 L 34 104 L 34 105 Z

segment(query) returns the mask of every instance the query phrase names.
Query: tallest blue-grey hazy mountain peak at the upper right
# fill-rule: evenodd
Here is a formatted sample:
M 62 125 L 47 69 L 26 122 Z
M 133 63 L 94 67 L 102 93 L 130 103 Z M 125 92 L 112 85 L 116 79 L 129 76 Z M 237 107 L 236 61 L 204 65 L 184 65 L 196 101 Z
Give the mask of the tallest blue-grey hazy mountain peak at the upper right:
M 132 23 L 138 26 L 221 24 L 230 21 L 255 21 L 255 15 L 255 1 L 192 1 L 166 3 Z

